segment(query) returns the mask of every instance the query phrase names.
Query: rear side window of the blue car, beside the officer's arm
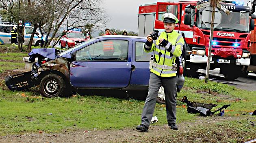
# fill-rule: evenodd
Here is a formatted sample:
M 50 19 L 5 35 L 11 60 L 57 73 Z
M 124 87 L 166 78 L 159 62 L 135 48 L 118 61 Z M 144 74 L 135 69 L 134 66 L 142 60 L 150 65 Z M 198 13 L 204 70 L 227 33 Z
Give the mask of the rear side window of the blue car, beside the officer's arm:
M 150 56 L 153 52 L 145 52 L 144 49 L 145 42 L 136 42 L 135 43 L 135 61 L 149 61 Z

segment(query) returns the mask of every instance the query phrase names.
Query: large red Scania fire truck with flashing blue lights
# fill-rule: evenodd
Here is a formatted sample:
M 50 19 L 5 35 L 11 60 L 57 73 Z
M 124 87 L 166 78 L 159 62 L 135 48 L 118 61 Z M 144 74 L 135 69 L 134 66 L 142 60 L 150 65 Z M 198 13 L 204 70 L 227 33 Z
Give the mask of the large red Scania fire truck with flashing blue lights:
M 189 47 L 186 52 L 186 72 L 191 76 L 198 69 L 206 69 L 210 41 L 211 7 L 197 10 L 195 6 L 207 1 L 157 2 L 139 6 L 138 36 L 164 31 L 161 17 L 173 13 L 180 20 L 175 30 L 183 33 Z M 230 11 L 226 15 L 216 8 L 210 69 L 220 68 L 228 80 L 238 78 L 250 63 L 250 31 L 254 29 L 255 15 L 242 2 L 223 1 Z M 252 18 L 250 18 L 251 16 Z

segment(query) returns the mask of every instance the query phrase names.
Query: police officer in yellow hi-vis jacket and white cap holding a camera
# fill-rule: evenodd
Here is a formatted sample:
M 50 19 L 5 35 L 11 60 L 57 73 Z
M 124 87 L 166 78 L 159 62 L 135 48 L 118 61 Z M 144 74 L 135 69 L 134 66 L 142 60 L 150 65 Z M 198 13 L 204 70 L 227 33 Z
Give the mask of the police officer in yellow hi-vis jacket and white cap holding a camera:
M 144 46 L 146 52 L 154 51 L 154 56 L 152 56 L 154 59 L 151 59 L 152 63 L 150 65 L 152 67 L 150 67 L 148 97 L 146 98 L 141 115 L 141 124 L 136 128 L 143 132 L 147 132 L 150 126 L 156 105 L 156 97 L 161 84 L 163 84 L 165 89 L 168 125 L 171 129 L 178 130 L 176 125 L 177 65 L 175 59 L 182 53 L 184 39 L 174 30 L 175 23 L 178 23 L 175 15 L 165 13 L 162 19 L 165 31 L 159 32 L 156 40 L 152 39 L 152 35 L 148 35 L 148 40 Z

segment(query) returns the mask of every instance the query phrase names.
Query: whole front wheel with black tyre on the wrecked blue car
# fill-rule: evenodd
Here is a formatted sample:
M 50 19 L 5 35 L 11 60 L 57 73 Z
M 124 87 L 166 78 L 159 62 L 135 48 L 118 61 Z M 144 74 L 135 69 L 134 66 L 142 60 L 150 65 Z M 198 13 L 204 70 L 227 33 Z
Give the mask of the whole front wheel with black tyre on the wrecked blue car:
M 44 97 L 64 97 L 65 80 L 57 74 L 48 74 L 42 78 L 40 92 Z

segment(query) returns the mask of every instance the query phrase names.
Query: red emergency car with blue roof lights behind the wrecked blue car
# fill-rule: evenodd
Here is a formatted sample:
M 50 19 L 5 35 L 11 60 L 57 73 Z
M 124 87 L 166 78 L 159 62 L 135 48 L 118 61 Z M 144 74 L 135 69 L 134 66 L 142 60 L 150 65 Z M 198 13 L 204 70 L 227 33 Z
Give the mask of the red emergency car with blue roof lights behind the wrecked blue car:
M 72 29 L 67 32 L 65 30 L 62 32 L 62 35 L 59 42 L 60 48 L 71 48 L 90 39 L 89 34 L 87 33 L 85 37 L 81 29 Z

